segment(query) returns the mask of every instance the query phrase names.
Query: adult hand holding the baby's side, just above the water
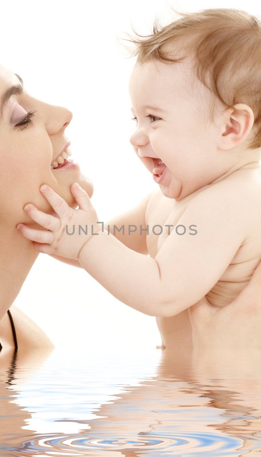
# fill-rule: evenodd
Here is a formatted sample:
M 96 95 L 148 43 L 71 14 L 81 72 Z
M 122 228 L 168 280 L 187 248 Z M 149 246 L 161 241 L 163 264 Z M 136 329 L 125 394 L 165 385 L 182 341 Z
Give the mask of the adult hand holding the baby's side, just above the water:
M 206 297 L 188 308 L 194 356 L 210 359 L 243 355 L 261 358 L 261 262 L 250 282 L 224 307 Z

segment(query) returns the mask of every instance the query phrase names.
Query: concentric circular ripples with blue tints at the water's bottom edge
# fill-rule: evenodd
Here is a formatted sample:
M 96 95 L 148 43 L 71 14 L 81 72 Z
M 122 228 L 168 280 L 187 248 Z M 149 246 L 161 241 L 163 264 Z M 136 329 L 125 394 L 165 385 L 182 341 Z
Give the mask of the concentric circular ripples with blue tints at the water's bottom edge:
M 142 433 L 142 432 L 141 432 Z M 24 441 L 19 447 L 9 448 L 5 455 L 11 456 L 80 456 L 89 455 L 88 451 L 127 451 L 145 452 L 149 455 L 166 456 L 166 452 L 175 456 L 228 456 L 237 455 L 235 451 L 241 440 L 229 436 L 220 436 L 210 433 L 191 433 L 184 436 L 157 436 L 156 434 L 142 433 L 141 437 L 94 437 L 79 434 L 75 436 L 56 435 L 39 436 Z M 7 451 L 7 449 L 6 449 Z M 10 453 L 12 451 L 12 453 Z M 83 453 L 84 452 L 84 453 Z M 100 453 L 98 455 L 101 455 Z

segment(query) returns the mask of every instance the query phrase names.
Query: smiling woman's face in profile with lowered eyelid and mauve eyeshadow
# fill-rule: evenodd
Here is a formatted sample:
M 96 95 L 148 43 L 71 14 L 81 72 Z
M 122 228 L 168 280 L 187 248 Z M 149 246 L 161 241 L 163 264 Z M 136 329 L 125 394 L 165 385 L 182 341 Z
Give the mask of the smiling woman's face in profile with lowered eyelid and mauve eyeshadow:
M 0 223 L 5 221 L 15 228 L 18 222 L 37 225 L 23 210 L 26 203 L 53 213 L 39 190 L 43 183 L 74 208 L 78 204 L 70 191 L 73 182 L 78 182 L 89 197 L 93 184 L 78 164 L 75 168 L 51 169 L 51 162 L 69 141 L 65 129 L 73 115 L 67 108 L 39 101 L 23 90 L 10 96 L 1 116 L 2 97 L 13 85 L 22 85 L 20 77 L 0 66 Z M 18 126 L 27 112 L 34 112 L 31 123 Z

